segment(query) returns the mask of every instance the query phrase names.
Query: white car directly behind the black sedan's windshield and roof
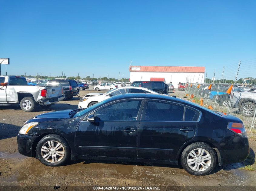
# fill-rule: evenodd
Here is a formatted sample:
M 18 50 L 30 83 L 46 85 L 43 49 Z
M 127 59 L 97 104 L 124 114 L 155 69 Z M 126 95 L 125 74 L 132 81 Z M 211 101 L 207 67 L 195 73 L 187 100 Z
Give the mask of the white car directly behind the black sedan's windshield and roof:
M 121 87 L 117 89 L 113 89 L 111 91 L 108 91 L 105 94 L 98 93 L 89 93 L 85 95 L 81 99 L 81 101 L 78 103 L 78 108 L 86 108 L 89 107 L 95 103 L 101 102 L 103 100 L 106 100 L 112 96 L 119 95 L 119 94 L 128 94 L 128 93 L 148 93 L 148 94 L 159 94 L 158 92 L 149 90 L 147 88 L 141 88 L 141 87 Z

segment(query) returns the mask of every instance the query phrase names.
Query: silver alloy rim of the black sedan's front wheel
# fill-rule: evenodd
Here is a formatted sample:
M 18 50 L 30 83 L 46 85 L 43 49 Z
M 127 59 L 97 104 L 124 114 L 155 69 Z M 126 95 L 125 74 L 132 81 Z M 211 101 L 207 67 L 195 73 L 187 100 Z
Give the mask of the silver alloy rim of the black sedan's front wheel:
M 58 141 L 47 141 L 41 148 L 41 154 L 45 161 L 56 163 L 64 157 L 65 149 Z

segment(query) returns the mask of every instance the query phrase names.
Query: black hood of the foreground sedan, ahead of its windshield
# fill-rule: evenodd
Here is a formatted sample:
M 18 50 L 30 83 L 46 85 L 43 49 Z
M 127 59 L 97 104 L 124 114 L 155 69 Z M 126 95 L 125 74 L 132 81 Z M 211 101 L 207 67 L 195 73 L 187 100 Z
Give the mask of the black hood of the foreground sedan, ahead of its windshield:
M 25 123 L 30 123 L 30 122 L 34 122 L 34 121 L 37 121 L 37 122 L 63 121 L 67 118 L 70 118 L 69 113 L 74 110 L 77 110 L 77 109 L 43 113 L 43 114 L 33 117 L 32 119 L 29 119 Z

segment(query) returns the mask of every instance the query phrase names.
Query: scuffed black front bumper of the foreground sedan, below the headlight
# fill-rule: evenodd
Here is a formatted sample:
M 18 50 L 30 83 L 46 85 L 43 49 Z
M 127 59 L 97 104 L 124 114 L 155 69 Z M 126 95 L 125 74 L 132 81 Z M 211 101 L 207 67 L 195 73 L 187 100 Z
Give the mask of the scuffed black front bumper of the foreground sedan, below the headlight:
M 28 156 L 28 157 L 34 157 L 35 153 L 32 150 L 33 143 L 38 138 L 38 136 L 32 136 L 32 135 L 17 135 L 17 144 L 18 144 L 18 151 L 20 154 Z

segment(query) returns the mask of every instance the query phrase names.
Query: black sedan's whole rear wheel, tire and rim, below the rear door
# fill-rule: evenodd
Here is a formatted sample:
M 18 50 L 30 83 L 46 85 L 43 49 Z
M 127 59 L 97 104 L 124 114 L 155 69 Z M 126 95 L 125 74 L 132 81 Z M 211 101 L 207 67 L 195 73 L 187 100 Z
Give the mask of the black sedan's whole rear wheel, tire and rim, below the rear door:
M 204 150 L 203 152 L 202 149 Z M 193 154 L 193 152 L 195 155 Z M 191 156 L 190 154 L 193 156 Z M 202 161 L 202 159 L 204 160 Z M 203 142 L 196 142 L 188 145 L 181 154 L 182 167 L 192 175 L 206 175 L 215 168 L 216 163 L 217 157 L 214 149 Z M 195 168 L 195 170 L 193 170 L 193 168 Z

